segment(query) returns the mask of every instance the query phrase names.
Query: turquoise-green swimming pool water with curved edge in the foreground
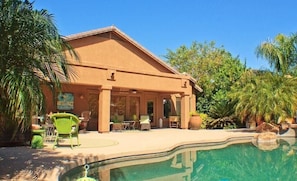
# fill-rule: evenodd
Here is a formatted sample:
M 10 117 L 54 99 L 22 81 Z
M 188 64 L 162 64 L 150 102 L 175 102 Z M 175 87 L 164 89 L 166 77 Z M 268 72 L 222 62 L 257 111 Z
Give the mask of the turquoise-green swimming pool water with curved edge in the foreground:
M 268 145 L 273 150 L 257 146 L 250 140 L 240 144 L 186 145 L 166 153 L 90 163 L 87 175 L 103 181 L 297 180 L 295 138 L 279 139 L 275 147 Z M 84 174 L 84 167 L 77 167 L 60 180 L 76 180 Z

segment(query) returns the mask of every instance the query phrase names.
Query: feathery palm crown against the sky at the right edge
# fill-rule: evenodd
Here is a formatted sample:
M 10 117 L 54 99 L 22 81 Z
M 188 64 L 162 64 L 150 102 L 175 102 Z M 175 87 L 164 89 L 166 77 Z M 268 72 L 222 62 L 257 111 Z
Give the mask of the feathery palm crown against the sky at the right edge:
M 274 40 L 259 45 L 256 54 L 267 59 L 277 73 L 283 76 L 292 74 L 297 64 L 297 34 L 278 34 Z

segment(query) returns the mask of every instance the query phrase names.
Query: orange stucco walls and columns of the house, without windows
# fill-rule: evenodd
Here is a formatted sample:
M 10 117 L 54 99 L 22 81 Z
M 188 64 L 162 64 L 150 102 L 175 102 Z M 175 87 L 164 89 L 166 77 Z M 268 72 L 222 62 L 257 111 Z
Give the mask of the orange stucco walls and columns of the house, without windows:
M 98 93 L 99 109 L 95 119 L 98 130 L 108 132 L 110 97 L 117 94 L 116 91 L 124 90 L 131 94 L 131 90 L 136 90 L 137 95 L 134 96 L 140 98 L 140 114 L 146 114 L 147 101 L 154 101 L 152 125 L 158 127 L 158 120 L 164 119 L 163 98 L 178 95 L 181 97 L 181 125 L 187 128 L 189 111 L 195 109 L 193 95 L 196 90 L 192 87 L 190 76 L 176 72 L 135 42 L 114 31 L 74 38 L 69 43 L 80 58 L 80 61 L 75 61 L 68 56 L 74 76 L 62 86 L 62 92 L 74 94 L 74 109 L 71 112 L 79 115 L 87 110 L 87 96 L 90 92 Z M 46 91 L 46 94 L 48 102 L 52 101 L 50 93 Z M 48 111 L 57 111 L 55 106 L 55 103 L 48 103 Z M 168 126 L 167 123 L 165 119 L 163 125 Z

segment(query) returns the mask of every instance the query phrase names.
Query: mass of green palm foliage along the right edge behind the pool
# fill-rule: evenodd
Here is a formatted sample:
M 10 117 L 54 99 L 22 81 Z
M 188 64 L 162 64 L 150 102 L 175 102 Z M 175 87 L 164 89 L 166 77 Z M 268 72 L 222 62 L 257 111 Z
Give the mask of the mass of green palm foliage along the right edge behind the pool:
M 268 60 L 270 71 L 248 71 L 234 84 L 230 97 L 242 120 L 277 122 L 293 118 L 297 110 L 297 36 L 278 34 L 256 53 Z

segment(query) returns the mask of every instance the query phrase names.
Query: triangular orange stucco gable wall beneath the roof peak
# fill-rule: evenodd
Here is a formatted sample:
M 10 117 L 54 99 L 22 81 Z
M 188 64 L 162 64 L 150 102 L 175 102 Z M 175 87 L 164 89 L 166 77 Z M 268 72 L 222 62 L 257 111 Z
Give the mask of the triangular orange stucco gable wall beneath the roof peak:
M 128 42 L 92 36 L 70 43 L 79 52 L 84 63 L 134 72 L 170 73 Z

